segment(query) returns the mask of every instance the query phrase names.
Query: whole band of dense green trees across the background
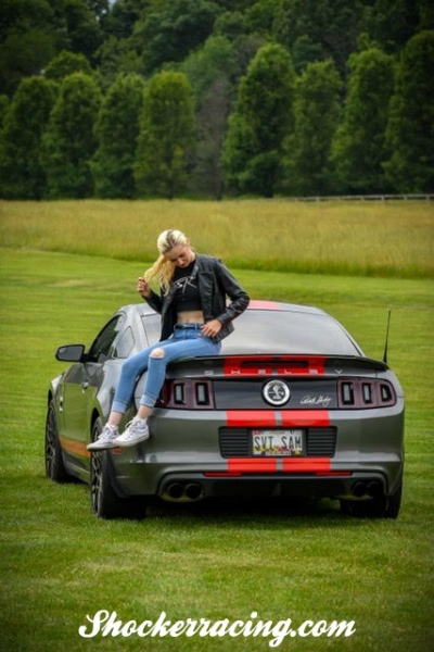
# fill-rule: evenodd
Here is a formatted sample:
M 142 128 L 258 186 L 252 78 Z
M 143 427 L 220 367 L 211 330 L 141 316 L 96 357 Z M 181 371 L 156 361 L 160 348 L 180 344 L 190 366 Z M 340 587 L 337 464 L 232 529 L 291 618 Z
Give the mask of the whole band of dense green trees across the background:
M 434 190 L 429 0 L 3 0 L 7 199 Z

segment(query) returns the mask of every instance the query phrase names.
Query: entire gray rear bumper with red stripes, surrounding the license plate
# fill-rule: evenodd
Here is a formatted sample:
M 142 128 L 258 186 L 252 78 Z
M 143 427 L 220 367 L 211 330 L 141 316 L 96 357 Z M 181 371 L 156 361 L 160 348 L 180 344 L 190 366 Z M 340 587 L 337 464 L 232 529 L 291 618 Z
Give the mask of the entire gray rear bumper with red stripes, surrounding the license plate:
M 248 413 L 252 423 L 257 414 Z M 376 411 L 375 418 L 367 418 L 367 412 L 329 413 L 328 423 L 337 431 L 330 456 L 224 457 L 219 432 L 232 425 L 226 414 L 197 418 L 190 411 L 161 411 L 158 416 L 163 418 L 152 419 L 152 437 L 144 444 L 112 453 L 124 496 L 180 502 L 237 496 L 365 500 L 393 494 L 403 477 L 404 412 L 398 406 Z M 310 424 L 311 411 L 303 417 Z

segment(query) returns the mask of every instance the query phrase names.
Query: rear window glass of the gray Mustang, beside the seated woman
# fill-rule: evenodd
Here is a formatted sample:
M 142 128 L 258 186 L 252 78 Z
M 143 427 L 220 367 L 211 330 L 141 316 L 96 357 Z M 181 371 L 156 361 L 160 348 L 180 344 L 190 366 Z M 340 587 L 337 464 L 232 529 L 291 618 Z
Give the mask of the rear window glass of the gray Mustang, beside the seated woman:
M 224 340 L 222 353 L 362 354 L 328 315 L 248 310 L 233 325 L 235 331 Z

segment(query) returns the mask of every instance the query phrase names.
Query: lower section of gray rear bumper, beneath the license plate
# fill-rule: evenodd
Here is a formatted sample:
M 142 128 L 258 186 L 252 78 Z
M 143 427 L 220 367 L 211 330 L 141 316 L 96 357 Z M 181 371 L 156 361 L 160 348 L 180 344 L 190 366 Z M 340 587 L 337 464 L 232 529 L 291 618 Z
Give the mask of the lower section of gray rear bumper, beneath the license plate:
M 116 457 L 116 455 L 114 455 Z M 119 455 L 124 457 L 124 454 Z M 240 460 L 219 464 L 159 464 L 148 461 L 114 465 L 116 485 L 123 496 L 159 496 L 173 502 L 188 502 L 210 497 L 305 497 L 365 500 L 391 496 L 404 468 L 399 457 L 383 464 L 332 464 L 330 459 L 294 460 L 291 471 L 277 472 L 267 460 L 263 471 L 241 464 Z M 235 463 L 234 463 L 235 462 Z M 272 460 L 271 462 L 276 462 Z M 281 462 L 281 461 L 279 461 Z M 286 461 L 288 462 L 288 461 Z

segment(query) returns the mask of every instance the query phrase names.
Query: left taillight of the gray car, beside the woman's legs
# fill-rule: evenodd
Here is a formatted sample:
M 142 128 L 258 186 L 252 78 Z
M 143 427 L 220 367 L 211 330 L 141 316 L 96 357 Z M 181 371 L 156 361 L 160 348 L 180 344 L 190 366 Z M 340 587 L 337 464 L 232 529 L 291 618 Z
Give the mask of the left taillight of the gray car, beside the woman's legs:
M 189 378 L 166 380 L 157 405 L 175 410 L 213 410 L 213 384 L 210 380 Z

